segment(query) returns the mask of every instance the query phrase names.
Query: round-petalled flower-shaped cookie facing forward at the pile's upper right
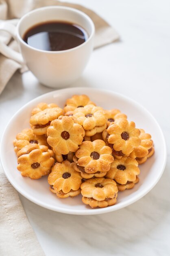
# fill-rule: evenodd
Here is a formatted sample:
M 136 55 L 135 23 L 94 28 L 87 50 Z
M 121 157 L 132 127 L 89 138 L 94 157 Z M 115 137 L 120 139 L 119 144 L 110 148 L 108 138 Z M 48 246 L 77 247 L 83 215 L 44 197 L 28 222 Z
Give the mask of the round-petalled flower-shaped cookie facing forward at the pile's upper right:
M 130 154 L 141 143 L 140 130 L 135 128 L 134 122 L 121 119 L 107 128 L 108 143 L 113 144 L 113 149 L 122 154 Z

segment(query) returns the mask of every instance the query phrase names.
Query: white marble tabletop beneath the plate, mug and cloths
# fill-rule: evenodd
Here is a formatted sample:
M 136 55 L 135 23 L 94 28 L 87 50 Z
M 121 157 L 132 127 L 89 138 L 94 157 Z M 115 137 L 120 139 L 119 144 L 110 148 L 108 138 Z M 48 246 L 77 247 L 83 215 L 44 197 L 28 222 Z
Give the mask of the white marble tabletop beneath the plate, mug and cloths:
M 71 1 L 70 1 L 71 2 Z M 94 9 L 120 33 L 97 49 L 73 86 L 107 88 L 135 99 L 159 122 L 168 162 L 157 185 L 134 204 L 98 216 L 53 212 L 20 195 L 47 256 L 170 255 L 170 2 L 74 0 Z M 52 89 L 17 72 L 0 95 L 0 134 L 13 114 Z M 161 150 L 161 148 L 160 148 Z

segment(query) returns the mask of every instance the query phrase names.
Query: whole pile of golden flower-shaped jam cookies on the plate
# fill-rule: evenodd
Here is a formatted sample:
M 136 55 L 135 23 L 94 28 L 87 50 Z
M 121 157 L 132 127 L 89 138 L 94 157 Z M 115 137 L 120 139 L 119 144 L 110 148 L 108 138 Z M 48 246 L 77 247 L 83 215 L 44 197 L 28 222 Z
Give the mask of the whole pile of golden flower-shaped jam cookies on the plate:
M 87 95 L 72 96 L 63 109 L 39 103 L 30 125 L 13 141 L 22 176 L 48 175 L 52 193 L 59 198 L 81 193 L 92 208 L 113 205 L 118 191 L 132 189 L 139 182 L 138 164 L 154 153 L 148 133 Z

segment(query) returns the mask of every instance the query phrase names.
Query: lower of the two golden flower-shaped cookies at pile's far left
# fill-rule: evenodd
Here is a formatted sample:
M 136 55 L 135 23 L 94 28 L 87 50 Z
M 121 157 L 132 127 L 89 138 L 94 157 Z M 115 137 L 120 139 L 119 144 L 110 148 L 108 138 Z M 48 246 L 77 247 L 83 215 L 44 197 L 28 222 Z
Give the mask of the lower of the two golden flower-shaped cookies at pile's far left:
M 17 153 L 18 171 L 24 177 L 39 179 L 51 172 L 54 164 L 53 151 L 46 146 L 29 144 Z

